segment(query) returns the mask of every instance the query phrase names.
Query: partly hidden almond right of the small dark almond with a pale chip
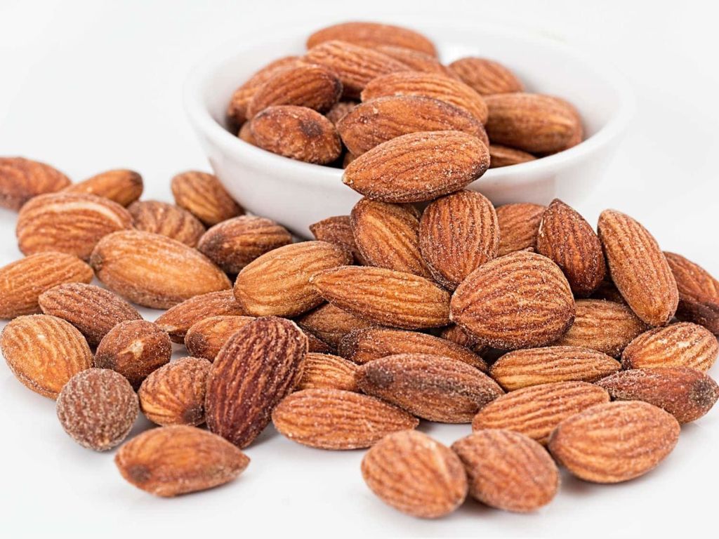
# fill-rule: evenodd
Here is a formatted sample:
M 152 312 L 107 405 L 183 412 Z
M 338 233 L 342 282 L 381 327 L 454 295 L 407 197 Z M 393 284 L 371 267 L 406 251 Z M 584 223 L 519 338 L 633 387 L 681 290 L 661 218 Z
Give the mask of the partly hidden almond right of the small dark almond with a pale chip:
M 232 290 L 196 295 L 162 313 L 155 324 L 167 331 L 173 343 L 183 344 L 189 329 L 211 316 L 241 316 L 244 312 Z

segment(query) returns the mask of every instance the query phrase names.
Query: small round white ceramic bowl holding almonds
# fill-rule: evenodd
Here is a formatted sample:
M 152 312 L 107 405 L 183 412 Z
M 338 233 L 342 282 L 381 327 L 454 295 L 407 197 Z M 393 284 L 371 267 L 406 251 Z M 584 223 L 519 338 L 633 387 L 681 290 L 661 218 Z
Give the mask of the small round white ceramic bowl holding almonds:
M 494 58 L 513 70 L 528 91 L 565 98 L 582 116 L 581 144 L 536 161 L 490 169 L 470 189 L 495 205 L 548 203 L 554 197 L 577 203 L 590 194 L 633 114 L 633 97 L 623 78 L 608 65 L 546 38 L 454 24 L 418 29 L 434 40 L 444 63 L 467 55 Z M 301 54 L 310 33 L 225 45 L 193 70 L 185 88 L 190 121 L 227 190 L 250 212 L 303 237 L 309 236 L 310 224 L 349 213 L 359 195 L 342 183 L 342 170 L 290 160 L 238 139 L 225 128 L 225 111 L 235 88 L 271 60 Z

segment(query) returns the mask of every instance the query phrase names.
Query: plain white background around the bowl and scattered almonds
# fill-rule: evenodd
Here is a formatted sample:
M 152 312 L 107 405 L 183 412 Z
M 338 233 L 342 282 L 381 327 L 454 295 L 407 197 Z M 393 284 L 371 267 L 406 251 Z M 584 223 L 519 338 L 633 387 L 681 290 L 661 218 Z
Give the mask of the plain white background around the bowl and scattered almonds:
M 421 28 L 434 17 L 462 17 L 478 31 L 497 22 L 605 57 L 636 93 L 623 147 L 595 197 L 577 209 L 590 222 L 603 208 L 626 211 L 661 247 L 719 275 L 719 38 L 708 4 L 0 0 L 0 155 L 47 161 L 74 180 L 131 167 L 145 177 L 146 198 L 170 201 L 175 172 L 207 169 L 183 113 L 183 80 L 223 42 L 357 18 Z M 0 209 L 0 265 L 20 256 L 14 219 Z M 359 473 L 362 452 L 303 448 L 271 428 L 247 450 L 252 463 L 236 482 L 154 498 L 120 478 L 112 454 L 70 441 L 54 402 L 26 390 L 4 364 L 0 425 L 6 537 L 686 537 L 713 535 L 716 522 L 718 410 L 682 428 L 672 456 L 642 479 L 597 486 L 564 476 L 557 498 L 536 514 L 468 502 L 431 522 L 373 497 Z M 135 430 L 146 427 L 138 421 Z M 423 430 L 445 443 L 469 432 Z

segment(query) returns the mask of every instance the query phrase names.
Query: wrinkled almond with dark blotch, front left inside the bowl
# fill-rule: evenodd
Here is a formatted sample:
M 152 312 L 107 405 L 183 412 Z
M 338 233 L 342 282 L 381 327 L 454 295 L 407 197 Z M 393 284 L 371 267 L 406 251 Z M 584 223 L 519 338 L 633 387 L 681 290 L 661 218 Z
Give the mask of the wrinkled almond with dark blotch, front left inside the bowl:
M 326 165 L 342 153 L 331 121 L 303 106 L 270 106 L 249 126 L 257 147 L 292 159 Z

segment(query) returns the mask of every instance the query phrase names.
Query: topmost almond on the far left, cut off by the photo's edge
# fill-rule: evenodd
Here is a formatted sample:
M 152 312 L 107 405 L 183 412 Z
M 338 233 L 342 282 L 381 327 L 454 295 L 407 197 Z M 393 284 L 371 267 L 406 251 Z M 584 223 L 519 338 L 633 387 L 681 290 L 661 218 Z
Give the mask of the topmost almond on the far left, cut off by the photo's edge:
M 19 210 L 30 198 L 70 185 L 59 170 L 24 157 L 0 157 L 0 207 Z

